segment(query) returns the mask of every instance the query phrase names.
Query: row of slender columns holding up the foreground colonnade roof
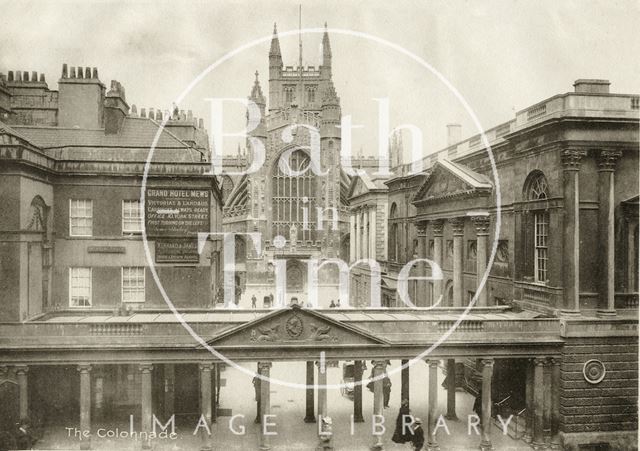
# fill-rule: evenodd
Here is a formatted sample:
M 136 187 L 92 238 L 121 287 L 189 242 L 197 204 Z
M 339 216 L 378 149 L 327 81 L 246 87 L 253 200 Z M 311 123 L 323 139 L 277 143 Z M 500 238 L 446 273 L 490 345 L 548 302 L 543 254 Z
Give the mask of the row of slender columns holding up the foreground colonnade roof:
M 401 387 L 400 397 L 403 400 L 410 401 L 409 386 L 409 367 L 408 360 L 402 360 L 401 370 Z M 427 421 L 425 429 L 425 443 L 427 450 L 438 450 L 438 440 L 434 431 L 436 431 L 440 413 L 438 411 L 438 365 L 440 361 L 436 359 L 427 359 L 428 365 L 428 409 Z M 455 420 L 455 360 L 448 359 L 448 395 L 447 395 L 447 412 L 446 418 Z M 481 393 L 482 393 L 482 418 L 481 418 L 481 443 L 482 450 L 491 450 L 491 425 L 492 425 L 492 377 L 494 359 L 483 358 L 481 363 Z M 383 375 L 386 373 L 387 360 L 374 360 L 373 378 L 374 378 L 374 394 L 373 394 L 373 410 L 372 414 L 381 418 L 383 415 Z M 264 419 L 265 415 L 271 413 L 271 386 L 270 371 L 271 362 L 258 362 L 257 372 L 260 376 L 260 386 L 257 392 L 258 401 L 258 417 Z M 315 368 L 314 368 L 315 367 Z M 138 366 L 141 377 L 141 431 L 150 432 L 152 425 L 152 372 L 154 365 L 150 363 L 141 363 Z M 206 428 L 199 428 L 201 433 L 201 450 L 208 451 L 211 449 L 211 424 L 215 422 L 215 414 L 212 408 L 213 384 L 212 371 L 215 365 L 210 362 L 199 364 L 200 372 L 200 413 L 201 422 L 206 422 Z M 28 402 L 28 366 L 20 365 L 15 367 L 15 374 L 19 386 L 19 409 L 21 417 L 27 417 L 29 414 Z M 91 429 L 91 371 L 90 364 L 80 364 L 77 366 L 80 376 L 79 387 L 79 405 L 80 405 L 80 429 Z M 315 382 L 314 373 L 317 371 L 317 383 Z M 354 393 L 353 393 L 353 421 L 356 423 L 364 422 L 362 414 L 362 375 L 363 362 L 361 360 L 354 361 Z M 322 425 L 322 419 L 330 417 L 328 399 L 327 399 L 327 372 L 324 365 L 320 362 L 306 362 L 306 409 L 304 421 L 307 423 L 318 422 L 319 447 L 321 449 L 333 449 L 331 433 L 325 434 Z M 559 443 L 559 427 L 560 427 L 560 360 L 557 358 L 536 357 L 527 360 L 526 370 L 526 435 L 525 440 L 530 442 L 534 449 L 547 449 L 548 447 Z M 317 393 L 317 410 L 314 409 L 315 395 Z M 317 414 L 317 415 L 316 415 Z M 374 418 L 374 417 L 372 417 Z M 372 420 L 373 421 L 373 420 Z M 484 427 L 486 425 L 486 427 Z M 259 447 L 262 450 L 271 449 L 270 435 L 266 433 L 265 425 L 260 426 Z M 373 443 L 371 449 L 382 450 L 384 443 L 382 435 L 373 433 Z M 148 448 L 150 443 L 144 442 L 143 448 Z M 90 440 L 81 442 L 82 449 L 90 449 Z

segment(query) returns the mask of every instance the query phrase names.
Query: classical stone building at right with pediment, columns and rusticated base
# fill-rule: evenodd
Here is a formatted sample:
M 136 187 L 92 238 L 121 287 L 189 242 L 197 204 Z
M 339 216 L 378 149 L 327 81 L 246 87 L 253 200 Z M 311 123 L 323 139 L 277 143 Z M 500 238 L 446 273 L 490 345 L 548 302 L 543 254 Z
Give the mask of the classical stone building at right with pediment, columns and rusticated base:
M 638 332 L 625 321 L 638 312 L 639 96 L 611 93 L 606 80 L 574 87 L 487 130 L 490 153 L 476 135 L 426 157 L 423 173 L 395 168 L 383 277 L 419 256 L 444 274 L 417 282 L 427 309 L 507 305 L 559 318 L 562 356 L 551 367 L 497 361 L 497 396 L 552 409 L 535 387 L 557 371 L 566 448 L 627 449 L 637 439 Z M 475 373 L 477 362 L 463 363 Z

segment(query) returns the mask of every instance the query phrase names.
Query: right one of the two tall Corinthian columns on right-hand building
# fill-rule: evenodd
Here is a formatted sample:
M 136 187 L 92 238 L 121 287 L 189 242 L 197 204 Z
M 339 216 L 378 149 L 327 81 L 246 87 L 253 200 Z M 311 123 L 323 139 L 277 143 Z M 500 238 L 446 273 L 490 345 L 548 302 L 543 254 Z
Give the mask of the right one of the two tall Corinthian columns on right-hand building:
M 599 316 L 613 316 L 615 308 L 615 223 L 614 188 L 619 150 L 603 150 L 598 155 L 598 234 L 600 242 L 600 310 Z

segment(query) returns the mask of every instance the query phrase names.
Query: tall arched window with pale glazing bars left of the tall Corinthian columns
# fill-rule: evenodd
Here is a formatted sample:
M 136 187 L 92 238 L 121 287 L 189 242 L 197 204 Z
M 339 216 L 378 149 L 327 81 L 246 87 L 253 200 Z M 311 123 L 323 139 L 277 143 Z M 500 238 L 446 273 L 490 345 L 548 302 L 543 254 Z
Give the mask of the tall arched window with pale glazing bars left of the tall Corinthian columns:
M 527 177 L 523 197 L 530 202 L 528 208 L 530 215 L 525 221 L 525 259 L 532 255 L 532 263 L 527 265 L 527 273 L 536 283 L 546 283 L 548 277 L 549 261 L 549 211 L 546 201 L 549 199 L 549 184 L 541 171 L 533 171 Z M 525 262 L 527 264 L 527 262 Z

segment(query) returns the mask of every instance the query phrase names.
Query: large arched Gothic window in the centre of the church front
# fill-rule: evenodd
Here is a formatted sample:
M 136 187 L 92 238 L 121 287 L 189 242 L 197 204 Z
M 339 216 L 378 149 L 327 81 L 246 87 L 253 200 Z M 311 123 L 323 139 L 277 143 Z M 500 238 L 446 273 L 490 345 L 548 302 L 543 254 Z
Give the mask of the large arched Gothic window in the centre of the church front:
M 273 180 L 272 214 L 273 236 L 282 235 L 296 241 L 315 240 L 315 189 L 310 159 L 302 150 L 289 156 L 291 174 L 285 174 L 276 163 Z M 303 172 L 301 175 L 296 173 Z M 306 224 L 303 222 L 306 216 Z

